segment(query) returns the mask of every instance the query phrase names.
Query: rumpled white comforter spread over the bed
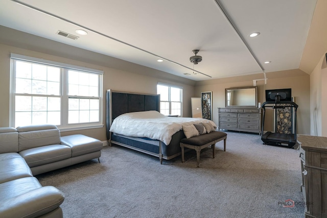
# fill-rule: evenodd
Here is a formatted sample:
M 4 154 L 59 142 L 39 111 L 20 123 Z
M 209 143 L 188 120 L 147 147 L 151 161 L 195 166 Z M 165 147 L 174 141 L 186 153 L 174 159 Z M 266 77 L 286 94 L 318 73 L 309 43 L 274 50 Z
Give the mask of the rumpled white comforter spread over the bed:
M 110 132 L 133 137 L 147 137 L 169 144 L 172 135 L 182 130 L 182 126 L 210 122 L 212 120 L 191 117 L 169 117 L 158 111 L 125 113 L 116 117 Z

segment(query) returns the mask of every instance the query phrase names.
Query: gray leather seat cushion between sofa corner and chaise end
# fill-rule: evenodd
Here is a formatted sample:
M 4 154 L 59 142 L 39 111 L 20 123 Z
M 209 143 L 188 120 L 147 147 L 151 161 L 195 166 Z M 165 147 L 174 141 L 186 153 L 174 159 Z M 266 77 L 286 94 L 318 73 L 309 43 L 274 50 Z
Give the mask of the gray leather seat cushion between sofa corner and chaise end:
M 56 162 L 72 157 L 71 148 L 63 144 L 52 144 L 19 152 L 30 167 Z

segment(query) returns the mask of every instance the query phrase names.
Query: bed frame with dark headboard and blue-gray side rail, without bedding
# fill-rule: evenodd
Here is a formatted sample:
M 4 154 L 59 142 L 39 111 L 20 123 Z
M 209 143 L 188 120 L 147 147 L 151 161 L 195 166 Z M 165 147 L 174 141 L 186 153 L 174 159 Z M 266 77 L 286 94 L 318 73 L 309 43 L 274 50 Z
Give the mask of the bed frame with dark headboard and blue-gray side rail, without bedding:
M 119 115 L 149 110 L 156 110 L 160 112 L 159 94 L 139 94 L 108 89 L 106 93 L 107 140 L 109 142 L 109 146 L 111 146 L 113 143 L 159 157 L 160 164 L 162 164 L 162 159 L 169 160 L 181 154 L 179 141 L 185 137 L 182 130 L 172 136 L 172 140 L 168 146 L 159 140 L 128 137 L 109 132 L 113 120 Z

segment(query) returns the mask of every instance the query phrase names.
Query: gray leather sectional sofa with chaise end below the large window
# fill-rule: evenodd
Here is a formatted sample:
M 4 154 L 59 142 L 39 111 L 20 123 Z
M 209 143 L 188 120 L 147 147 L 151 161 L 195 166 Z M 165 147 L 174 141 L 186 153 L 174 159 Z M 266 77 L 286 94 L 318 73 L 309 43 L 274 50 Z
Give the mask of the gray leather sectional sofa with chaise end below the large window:
M 60 137 L 54 125 L 0 128 L 0 217 L 62 217 L 64 194 L 34 176 L 99 160 L 102 146 L 85 135 Z

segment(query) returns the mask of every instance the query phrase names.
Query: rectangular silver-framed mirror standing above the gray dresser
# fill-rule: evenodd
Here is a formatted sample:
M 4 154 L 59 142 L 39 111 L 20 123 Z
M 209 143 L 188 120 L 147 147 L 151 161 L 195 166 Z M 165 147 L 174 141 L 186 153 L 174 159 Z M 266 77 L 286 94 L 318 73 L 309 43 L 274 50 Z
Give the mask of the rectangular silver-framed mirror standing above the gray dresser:
M 257 107 L 258 89 L 253 87 L 226 88 L 226 107 Z

